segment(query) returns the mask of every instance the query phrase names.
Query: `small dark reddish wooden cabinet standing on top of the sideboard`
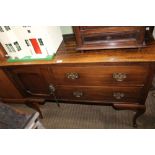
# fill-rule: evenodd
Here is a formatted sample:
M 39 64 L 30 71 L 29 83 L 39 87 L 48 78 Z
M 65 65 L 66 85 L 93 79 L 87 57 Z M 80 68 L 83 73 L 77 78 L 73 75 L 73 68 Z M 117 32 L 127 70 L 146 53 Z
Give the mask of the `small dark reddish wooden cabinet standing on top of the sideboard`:
M 144 26 L 74 26 L 77 50 L 139 48 L 145 45 Z

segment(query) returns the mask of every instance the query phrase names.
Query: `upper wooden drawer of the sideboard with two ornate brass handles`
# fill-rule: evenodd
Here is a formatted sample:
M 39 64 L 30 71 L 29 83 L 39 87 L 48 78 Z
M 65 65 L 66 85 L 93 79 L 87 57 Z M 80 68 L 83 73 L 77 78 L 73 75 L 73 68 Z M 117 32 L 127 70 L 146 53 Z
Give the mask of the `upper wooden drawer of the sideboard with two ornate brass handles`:
M 148 66 L 80 66 L 54 67 L 53 73 L 58 85 L 104 84 L 144 85 Z

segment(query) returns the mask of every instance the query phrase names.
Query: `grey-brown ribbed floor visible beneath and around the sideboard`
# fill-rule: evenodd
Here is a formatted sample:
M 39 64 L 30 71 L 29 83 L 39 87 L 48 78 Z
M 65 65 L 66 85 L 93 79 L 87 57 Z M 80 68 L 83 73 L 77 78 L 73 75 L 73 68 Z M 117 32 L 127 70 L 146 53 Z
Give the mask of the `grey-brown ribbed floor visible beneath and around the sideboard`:
M 155 97 L 149 93 L 145 114 L 138 118 L 138 128 L 155 128 Z M 155 93 L 155 91 L 154 91 Z M 12 105 L 27 113 L 33 110 L 25 105 Z M 61 107 L 53 102 L 41 106 L 44 119 L 41 120 L 48 129 L 130 129 L 133 111 L 116 111 L 110 106 L 81 104 L 64 104 Z

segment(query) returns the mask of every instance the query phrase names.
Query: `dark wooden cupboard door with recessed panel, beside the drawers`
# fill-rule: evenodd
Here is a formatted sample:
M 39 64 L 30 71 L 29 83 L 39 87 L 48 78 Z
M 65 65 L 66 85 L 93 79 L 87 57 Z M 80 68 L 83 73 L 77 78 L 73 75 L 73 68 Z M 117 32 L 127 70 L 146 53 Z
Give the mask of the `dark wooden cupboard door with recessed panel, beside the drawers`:
M 26 96 L 50 96 L 51 77 L 48 67 L 16 67 L 9 70 Z

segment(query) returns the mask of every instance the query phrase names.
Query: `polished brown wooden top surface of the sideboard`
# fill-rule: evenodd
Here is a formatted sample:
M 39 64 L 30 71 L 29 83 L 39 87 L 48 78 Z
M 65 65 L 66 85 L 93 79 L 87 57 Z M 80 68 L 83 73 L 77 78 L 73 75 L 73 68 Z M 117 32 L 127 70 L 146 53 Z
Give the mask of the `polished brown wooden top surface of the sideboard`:
M 53 60 L 35 60 L 30 62 L 0 62 L 0 66 L 49 65 L 72 63 L 116 63 L 116 62 L 155 62 L 155 41 L 141 49 L 108 49 L 76 51 L 75 38 L 64 39 Z

